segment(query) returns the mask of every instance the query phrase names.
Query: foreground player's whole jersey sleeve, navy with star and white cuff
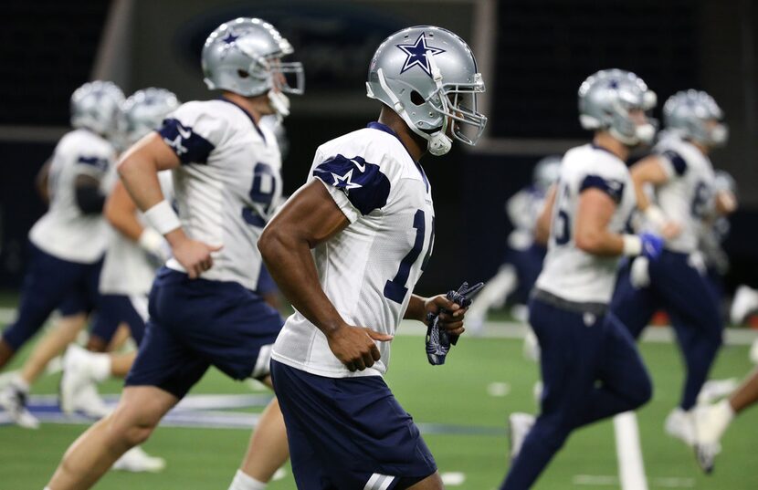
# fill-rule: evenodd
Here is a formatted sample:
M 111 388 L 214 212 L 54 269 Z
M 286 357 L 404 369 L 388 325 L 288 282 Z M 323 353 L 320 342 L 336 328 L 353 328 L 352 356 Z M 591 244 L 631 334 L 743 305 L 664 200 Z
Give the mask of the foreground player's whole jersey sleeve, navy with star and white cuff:
M 342 213 L 353 223 L 387 203 L 390 181 L 381 167 L 362 156 L 337 153 L 322 157 L 317 152 L 311 178 L 320 180 Z

